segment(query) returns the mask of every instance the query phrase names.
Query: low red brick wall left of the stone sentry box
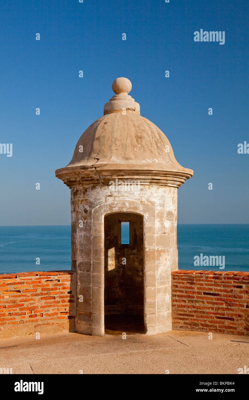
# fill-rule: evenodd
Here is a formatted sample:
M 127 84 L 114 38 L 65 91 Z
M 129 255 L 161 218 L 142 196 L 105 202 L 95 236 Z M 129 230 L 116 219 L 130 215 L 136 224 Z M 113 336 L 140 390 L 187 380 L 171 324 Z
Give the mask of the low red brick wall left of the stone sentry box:
M 76 273 L 0 275 L 0 340 L 74 331 Z

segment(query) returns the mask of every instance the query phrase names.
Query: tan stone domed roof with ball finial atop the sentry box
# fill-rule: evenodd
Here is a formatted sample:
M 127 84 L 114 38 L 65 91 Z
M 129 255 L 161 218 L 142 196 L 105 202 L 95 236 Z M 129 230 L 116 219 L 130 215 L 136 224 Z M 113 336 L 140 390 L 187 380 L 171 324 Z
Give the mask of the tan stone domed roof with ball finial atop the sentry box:
M 177 187 L 193 176 L 176 161 L 165 134 L 140 115 L 139 104 L 128 95 L 131 82 L 117 78 L 112 88 L 116 95 L 105 104 L 104 116 L 85 130 L 71 162 L 56 170 L 56 176 L 70 186 L 76 176 L 80 182 L 84 175 L 89 180 L 91 170 L 108 176 L 120 171 L 121 176 L 157 176 L 163 184 Z

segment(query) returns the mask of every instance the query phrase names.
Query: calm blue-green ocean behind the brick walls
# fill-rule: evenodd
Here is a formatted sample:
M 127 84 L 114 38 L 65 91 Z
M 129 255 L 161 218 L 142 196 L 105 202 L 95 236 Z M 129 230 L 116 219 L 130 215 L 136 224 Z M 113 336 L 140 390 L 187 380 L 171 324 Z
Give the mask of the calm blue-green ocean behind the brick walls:
M 0 273 L 70 270 L 70 234 L 62 225 L 0 226 Z M 182 270 L 249 271 L 249 224 L 179 224 L 177 248 Z M 201 254 L 224 256 L 225 268 L 194 266 Z

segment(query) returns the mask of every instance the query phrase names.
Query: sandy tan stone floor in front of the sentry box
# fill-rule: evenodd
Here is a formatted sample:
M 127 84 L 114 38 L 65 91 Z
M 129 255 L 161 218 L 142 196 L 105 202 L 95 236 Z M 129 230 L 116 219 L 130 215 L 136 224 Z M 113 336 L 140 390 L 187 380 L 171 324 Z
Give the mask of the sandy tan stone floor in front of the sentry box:
M 147 336 L 106 331 L 4 340 L 0 368 L 13 374 L 237 374 L 249 367 L 249 338 L 170 331 Z

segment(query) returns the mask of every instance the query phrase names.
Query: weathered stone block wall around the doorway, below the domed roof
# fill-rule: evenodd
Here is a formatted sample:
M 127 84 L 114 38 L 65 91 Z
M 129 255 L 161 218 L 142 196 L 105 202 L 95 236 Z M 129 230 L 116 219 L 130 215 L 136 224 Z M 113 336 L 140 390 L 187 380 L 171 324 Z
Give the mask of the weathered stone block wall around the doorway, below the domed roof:
M 104 179 L 104 178 L 103 178 Z M 107 179 L 107 178 L 106 178 Z M 104 220 L 109 214 L 143 217 L 144 327 L 171 329 L 171 271 L 177 270 L 177 188 L 140 184 L 138 192 L 102 185 L 71 189 L 72 270 L 77 272 L 77 332 L 104 335 Z M 104 180 L 103 180 L 104 182 Z

